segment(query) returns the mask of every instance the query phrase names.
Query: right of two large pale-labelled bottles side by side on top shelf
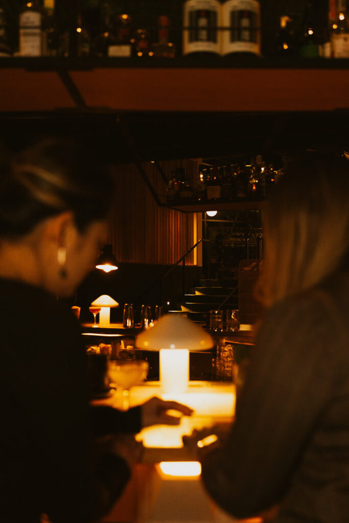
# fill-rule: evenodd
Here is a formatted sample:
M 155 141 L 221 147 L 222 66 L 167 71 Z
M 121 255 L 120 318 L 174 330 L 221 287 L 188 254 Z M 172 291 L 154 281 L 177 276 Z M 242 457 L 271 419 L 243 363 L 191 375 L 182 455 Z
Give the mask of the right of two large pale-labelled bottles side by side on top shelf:
M 257 0 L 228 0 L 222 6 L 221 54 L 261 54 L 261 6 Z

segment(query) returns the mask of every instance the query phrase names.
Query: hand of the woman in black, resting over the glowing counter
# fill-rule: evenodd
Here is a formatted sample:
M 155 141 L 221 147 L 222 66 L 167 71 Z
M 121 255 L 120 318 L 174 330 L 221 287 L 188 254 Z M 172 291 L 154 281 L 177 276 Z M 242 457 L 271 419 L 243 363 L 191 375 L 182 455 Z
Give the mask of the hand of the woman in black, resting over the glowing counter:
M 173 415 L 168 411 L 176 411 Z M 152 397 L 142 405 L 142 427 L 150 425 L 179 425 L 182 415 L 191 416 L 193 410 L 176 401 L 164 401 L 159 397 Z M 181 415 L 182 414 L 182 415 Z

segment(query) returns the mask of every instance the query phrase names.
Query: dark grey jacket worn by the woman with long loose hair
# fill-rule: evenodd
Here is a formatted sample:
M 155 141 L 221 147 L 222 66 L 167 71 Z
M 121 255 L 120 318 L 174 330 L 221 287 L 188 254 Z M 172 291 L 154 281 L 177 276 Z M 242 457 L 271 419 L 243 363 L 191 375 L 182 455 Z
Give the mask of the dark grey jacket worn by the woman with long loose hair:
M 268 311 L 235 424 L 202 476 L 235 517 L 280 504 L 278 523 L 347 523 L 349 276 Z

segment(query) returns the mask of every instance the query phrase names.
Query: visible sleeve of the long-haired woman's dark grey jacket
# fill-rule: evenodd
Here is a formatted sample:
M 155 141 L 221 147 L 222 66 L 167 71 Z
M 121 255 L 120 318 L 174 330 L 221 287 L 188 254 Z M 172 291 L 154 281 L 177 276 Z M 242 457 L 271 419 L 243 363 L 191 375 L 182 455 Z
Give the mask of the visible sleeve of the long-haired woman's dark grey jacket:
M 235 517 L 279 502 L 297 468 L 335 376 L 333 327 L 316 299 L 288 300 L 269 310 L 227 443 L 202 463 L 204 484 Z

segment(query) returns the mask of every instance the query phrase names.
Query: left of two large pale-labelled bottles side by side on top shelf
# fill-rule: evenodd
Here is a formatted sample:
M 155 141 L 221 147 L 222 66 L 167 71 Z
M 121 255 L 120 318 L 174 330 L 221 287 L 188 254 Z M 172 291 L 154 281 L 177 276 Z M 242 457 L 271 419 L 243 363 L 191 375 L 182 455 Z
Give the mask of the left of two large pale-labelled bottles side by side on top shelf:
M 186 0 L 183 5 L 183 54 L 220 52 L 218 0 Z

